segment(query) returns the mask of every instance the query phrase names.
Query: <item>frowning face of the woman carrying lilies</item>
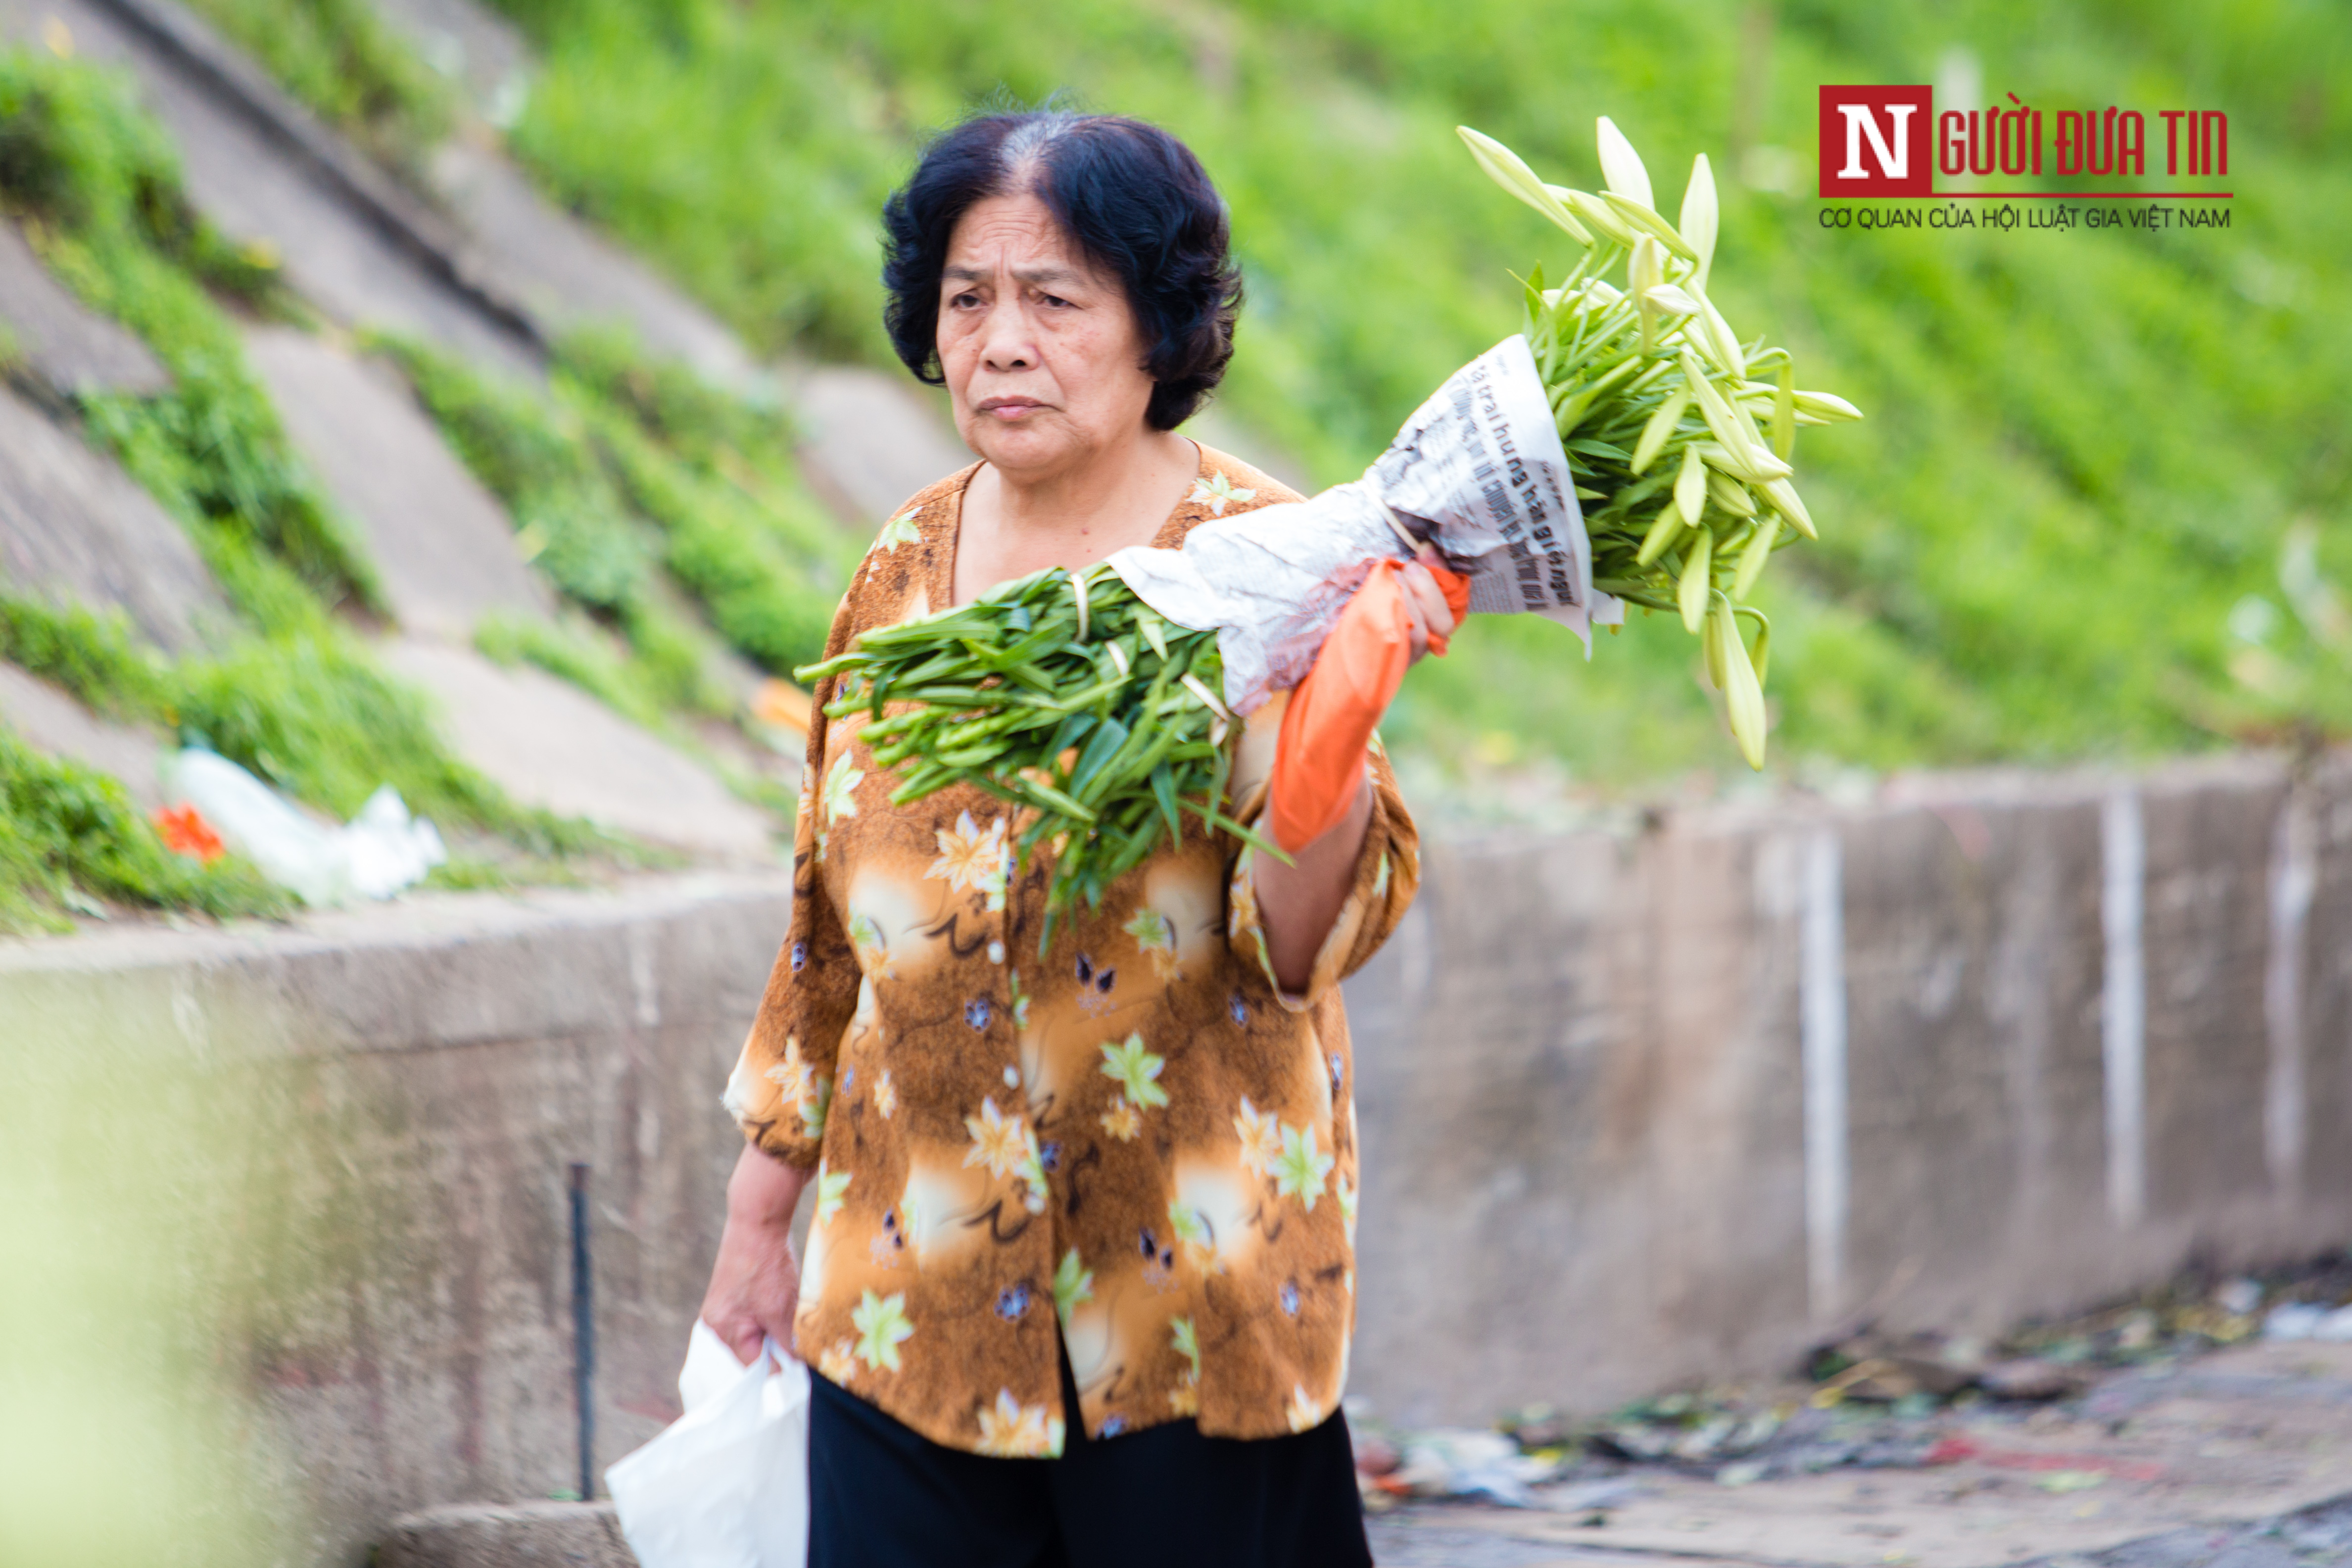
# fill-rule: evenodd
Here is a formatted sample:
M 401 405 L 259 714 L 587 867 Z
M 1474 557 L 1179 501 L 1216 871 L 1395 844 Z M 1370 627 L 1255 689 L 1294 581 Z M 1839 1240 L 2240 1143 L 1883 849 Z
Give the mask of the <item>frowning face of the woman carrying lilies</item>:
M 1049 477 L 1145 428 L 1152 381 L 1127 292 L 1035 195 L 993 195 L 957 221 L 938 364 L 955 428 L 1011 477 Z

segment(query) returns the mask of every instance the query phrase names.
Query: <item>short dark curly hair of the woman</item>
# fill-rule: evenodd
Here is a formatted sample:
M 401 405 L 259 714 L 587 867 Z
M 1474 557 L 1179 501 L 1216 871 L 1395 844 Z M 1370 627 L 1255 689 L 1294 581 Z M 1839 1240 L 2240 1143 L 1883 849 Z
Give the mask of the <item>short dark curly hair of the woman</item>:
M 957 219 L 990 195 L 1033 190 L 1098 268 L 1127 289 L 1148 343 L 1143 418 L 1174 430 L 1232 360 L 1242 273 L 1225 249 L 1225 202 L 1192 148 L 1157 125 L 1054 108 L 981 113 L 938 136 L 882 207 L 882 313 L 891 348 L 934 386 L 938 280 Z

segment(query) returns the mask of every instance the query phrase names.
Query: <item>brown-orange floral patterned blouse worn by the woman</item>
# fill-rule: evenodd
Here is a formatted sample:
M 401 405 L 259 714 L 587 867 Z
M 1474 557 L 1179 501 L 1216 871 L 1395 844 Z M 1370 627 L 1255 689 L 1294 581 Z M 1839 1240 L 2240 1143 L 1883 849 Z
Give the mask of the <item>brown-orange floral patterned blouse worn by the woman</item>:
M 875 538 L 826 654 L 953 602 L 978 465 Z M 1202 447 L 1152 543 L 1294 501 Z M 818 689 L 818 708 L 833 698 Z M 769 1154 L 816 1166 L 795 1335 L 818 1375 L 950 1448 L 1058 1455 L 1056 1340 L 1089 1436 L 1195 1418 L 1303 1432 L 1355 1326 L 1357 1140 L 1338 980 L 1388 938 L 1418 839 L 1374 743 L 1355 886 L 1303 997 L 1282 994 L 1251 856 L 1190 825 L 1080 905 L 1040 957 L 1049 860 L 969 785 L 891 806 L 863 715 L 809 733 L 793 929 L 727 1086 Z M 1279 703 L 1240 741 L 1263 809 Z

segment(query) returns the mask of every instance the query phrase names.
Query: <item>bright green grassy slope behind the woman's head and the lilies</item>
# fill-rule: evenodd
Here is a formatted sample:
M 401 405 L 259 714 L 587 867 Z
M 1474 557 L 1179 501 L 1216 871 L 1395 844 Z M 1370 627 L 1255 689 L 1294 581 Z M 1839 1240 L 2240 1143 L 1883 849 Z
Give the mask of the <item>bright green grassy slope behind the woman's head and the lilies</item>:
M 1456 120 L 1592 186 L 1611 113 L 1672 202 L 1691 153 L 1724 162 L 1736 115 L 1809 193 L 1816 82 L 1929 80 L 1955 45 L 1987 92 L 2046 110 L 2227 108 L 2230 233 L 1823 233 L 1809 195 L 1726 181 L 1717 299 L 1872 414 L 1802 451 L 1825 541 L 1766 592 L 1776 745 L 1896 764 L 2352 722 L 2293 616 L 2270 637 L 2305 677 L 2272 696 L 2232 679 L 2225 630 L 2244 595 L 2277 599 L 2291 520 L 2352 567 L 2336 7 L 1813 2 L 1759 35 L 1729 0 L 506 5 L 546 49 L 517 150 L 764 348 L 882 357 L 873 212 L 974 99 L 1068 87 L 1169 125 L 1218 176 L 1249 268 L 1228 407 L 1317 482 L 1515 324 L 1505 268 L 1562 259 L 1475 176 Z M 1637 623 L 1585 668 L 1555 628 L 1479 623 L 1414 675 L 1397 724 L 1444 750 L 1503 731 L 1604 778 L 1724 766 L 1691 644 L 1661 632 Z

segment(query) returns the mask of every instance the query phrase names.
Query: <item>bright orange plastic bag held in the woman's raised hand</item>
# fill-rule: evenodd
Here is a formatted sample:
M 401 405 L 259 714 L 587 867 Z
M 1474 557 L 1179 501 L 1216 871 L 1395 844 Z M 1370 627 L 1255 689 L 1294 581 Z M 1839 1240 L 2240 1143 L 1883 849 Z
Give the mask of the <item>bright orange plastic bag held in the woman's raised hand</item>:
M 1423 562 L 1428 564 L 1428 562 Z M 1265 792 L 1265 827 L 1284 853 L 1298 853 L 1338 825 L 1364 778 L 1364 748 L 1404 684 L 1414 663 L 1414 623 L 1404 614 L 1397 571 L 1404 562 L 1381 562 L 1338 614 L 1315 668 L 1291 691 L 1275 743 L 1275 773 Z M 1470 578 L 1430 567 L 1446 595 L 1454 625 L 1470 614 Z M 1446 639 L 1432 635 L 1430 654 Z

